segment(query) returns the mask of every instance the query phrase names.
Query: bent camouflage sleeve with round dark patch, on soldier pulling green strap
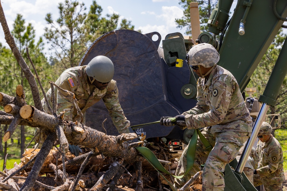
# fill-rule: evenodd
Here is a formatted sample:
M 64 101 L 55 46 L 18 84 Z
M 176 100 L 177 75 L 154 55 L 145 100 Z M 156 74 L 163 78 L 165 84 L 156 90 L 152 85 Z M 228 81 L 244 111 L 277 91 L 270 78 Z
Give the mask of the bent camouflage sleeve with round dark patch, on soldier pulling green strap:
M 235 83 L 229 75 L 219 76 L 213 86 L 213 96 L 210 98 L 213 108 L 205 113 L 185 115 L 187 128 L 204 128 L 222 122 L 229 108 L 231 95 L 235 90 Z

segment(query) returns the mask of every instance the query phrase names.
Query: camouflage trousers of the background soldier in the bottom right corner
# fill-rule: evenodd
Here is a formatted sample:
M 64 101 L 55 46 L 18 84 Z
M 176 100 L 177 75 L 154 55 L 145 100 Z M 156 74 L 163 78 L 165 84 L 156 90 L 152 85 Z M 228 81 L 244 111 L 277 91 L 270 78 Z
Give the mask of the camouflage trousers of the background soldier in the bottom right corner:
M 266 191 L 282 191 L 282 178 L 264 176 L 260 177 L 258 174 L 253 176 L 254 186 L 264 185 Z

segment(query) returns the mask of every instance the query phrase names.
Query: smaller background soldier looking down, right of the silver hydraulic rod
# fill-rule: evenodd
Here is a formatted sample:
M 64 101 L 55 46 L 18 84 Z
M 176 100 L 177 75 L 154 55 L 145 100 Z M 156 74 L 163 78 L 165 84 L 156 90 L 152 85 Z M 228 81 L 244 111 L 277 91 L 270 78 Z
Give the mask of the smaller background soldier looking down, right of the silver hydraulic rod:
M 263 122 L 258 133 L 260 141 L 256 151 L 259 165 L 254 170 L 254 186 L 263 184 L 266 191 L 279 191 L 285 181 L 283 152 L 280 143 L 271 133 L 271 125 Z

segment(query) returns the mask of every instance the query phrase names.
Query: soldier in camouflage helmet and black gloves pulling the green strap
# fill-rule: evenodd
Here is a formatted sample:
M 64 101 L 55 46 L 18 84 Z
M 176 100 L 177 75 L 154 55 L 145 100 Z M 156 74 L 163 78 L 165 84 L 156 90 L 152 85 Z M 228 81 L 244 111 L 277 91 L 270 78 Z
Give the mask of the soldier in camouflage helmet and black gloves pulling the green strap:
M 187 56 L 188 64 L 199 76 L 198 102 L 194 108 L 176 116 L 177 121 L 172 122 L 170 117 L 162 117 L 160 124 L 178 124 L 185 126 L 183 129 L 203 128 L 201 132 L 213 149 L 205 149 L 202 141 L 198 139 L 192 170 L 183 178 L 175 179 L 174 185 L 176 188 L 182 187 L 191 176 L 201 170 L 200 165 L 204 164 L 202 191 L 223 191 L 224 167 L 235 159 L 239 149 L 250 136 L 252 120 L 236 79 L 229 71 L 216 65 L 219 54 L 212 45 L 195 45 Z M 176 175 L 185 173 L 187 148 L 181 155 Z

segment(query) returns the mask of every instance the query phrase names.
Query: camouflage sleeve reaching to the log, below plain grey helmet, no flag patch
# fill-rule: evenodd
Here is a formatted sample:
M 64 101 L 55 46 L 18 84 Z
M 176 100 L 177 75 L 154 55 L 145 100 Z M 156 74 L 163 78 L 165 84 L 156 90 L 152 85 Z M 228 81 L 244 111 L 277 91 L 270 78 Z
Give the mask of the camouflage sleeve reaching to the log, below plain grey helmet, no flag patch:
M 130 122 L 125 117 L 123 109 L 119 103 L 119 92 L 115 81 L 111 81 L 114 83 L 108 88 L 106 95 L 103 97 L 103 101 L 108 109 L 110 117 L 113 120 L 115 127 L 117 128 L 120 134 L 129 133 L 128 128 L 130 126 Z

